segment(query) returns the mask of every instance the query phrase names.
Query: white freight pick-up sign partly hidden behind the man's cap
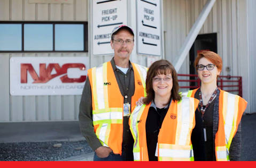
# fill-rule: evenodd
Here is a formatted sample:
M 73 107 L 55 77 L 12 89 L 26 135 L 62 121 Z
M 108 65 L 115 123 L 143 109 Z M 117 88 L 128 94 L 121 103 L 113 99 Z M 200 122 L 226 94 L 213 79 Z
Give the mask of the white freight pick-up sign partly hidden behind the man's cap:
M 94 55 L 114 54 L 110 46 L 111 32 L 127 25 L 127 0 L 92 1 L 92 47 Z

